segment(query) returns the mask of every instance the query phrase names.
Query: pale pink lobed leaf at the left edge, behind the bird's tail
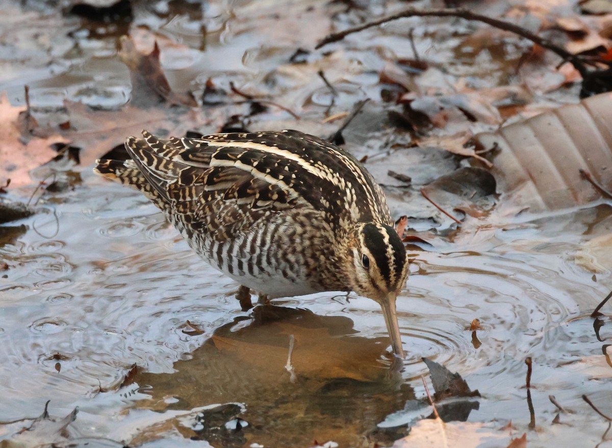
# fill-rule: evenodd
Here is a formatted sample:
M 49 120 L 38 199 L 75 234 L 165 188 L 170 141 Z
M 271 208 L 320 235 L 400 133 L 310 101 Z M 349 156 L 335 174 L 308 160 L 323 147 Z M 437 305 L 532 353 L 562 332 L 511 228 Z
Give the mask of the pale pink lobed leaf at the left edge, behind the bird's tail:
M 19 114 L 25 107 L 13 107 L 6 92 L 0 94 L 0 183 L 10 179 L 12 187 L 32 182 L 29 171 L 47 163 L 58 153 L 53 143 L 68 143 L 61 135 L 34 137 L 24 144 L 18 129 Z

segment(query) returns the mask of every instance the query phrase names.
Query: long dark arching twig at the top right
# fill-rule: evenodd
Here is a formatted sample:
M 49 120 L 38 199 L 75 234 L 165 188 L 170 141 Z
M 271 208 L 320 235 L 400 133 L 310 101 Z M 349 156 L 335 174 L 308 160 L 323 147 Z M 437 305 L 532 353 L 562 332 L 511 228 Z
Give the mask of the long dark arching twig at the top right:
M 378 26 L 383 23 L 387 23 L 393 20 L 398 20 L 400 18 L 405 17 L 460 17 L 466 20 L 476 20 L 488 25 L 494 26 L 495 28 L 503 29 L 505 31 L 513 32 L 514 34 L 520 35 L 525 39 L 531 40 L 531 42 L 540 45 L 540 47 L 546 48 L 547 50 L 553 51 L 553 53 L 561 56 L 562 59 L 567 59 L 567 61 L 572 62 L 572 65 L 576 67 L 578 72 L 582 75 L 583 78 L 586 78 L 589 75 L 589 70 L 586 68 L 584 62 L 575 54 L 570 53 L 564 48 L 559 47 L 558 45 L 554 45 L 554 43 L 550 42 L 548 39 L 544 39 L 539 35 L 533 34 L 528 30 L 522 28 L 513 23 L 509 23 L 503 20 L 498 20 L 492 17 L 487 17 L 485 15 L 477 14 L 468 9 L 416 9 L 416 8 L 408 8 L 397 14 L 390 15 L 387 17 L 379 18 L 378 20 L 374 20 L 368 23 L 364 23 L 360 26 L 355 26 L 354 28 L 345 29 L 345 31 L 336 32 L 334 34 L 329 34 L 325 37 L 321 42 L 319 42 L 315 48 L 321 48 L 328 43 L 337 42 L 338 40 L 344 39 L 347 35 L 353 34 L 355 32 L 363 31 L 364 29 L 372 28 L 373 26 Z

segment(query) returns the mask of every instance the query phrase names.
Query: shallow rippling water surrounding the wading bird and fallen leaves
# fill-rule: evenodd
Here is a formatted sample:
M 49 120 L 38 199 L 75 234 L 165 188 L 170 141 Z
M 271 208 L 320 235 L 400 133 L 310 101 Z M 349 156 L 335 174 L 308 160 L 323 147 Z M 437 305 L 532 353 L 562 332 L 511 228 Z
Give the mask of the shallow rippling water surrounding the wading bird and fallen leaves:
M 321 4 L 309 2 L 302 13 L 320 14 Z M 337 124 L 321 124 L 331 98 L 316 77 L 319 67 L 335 80 L 337 109 L 330 113 L 337 113 L 379 95 L 378 72 L 390 52 L 411 55 L 399 28 L 388 26 L 348 39 L 340 55 L 313 56 L 315 62 L 296 69 L 286 60 L 297 43 L 312 46 L 327 22 L 286 35 L 274 28 L 269 2 L 211 2 L 195 11 L 187 2 L 156 5 L 152 13 L 141 4 L 135 23 L 192 49 L 200 48 L 201 24 L 209 33 L 204 53 L 168 58 L 169 78 L 180 79 L 188 66 L 202 72 L 195 88 L 209 77 L 222 86 L 241 80 L 247 88 L 274 92 L 275 100 L 302 116 L 296 122 L 272 110 L 260 121 L 250 118 L 253 128 L 299 127 L 327 135 Z M 40 12 L 11 7 L 19 17 L 15 23 L 27 25 L 19 29 L 28 45 L 19 47 L 26 61 L 23 79 L 9 70 L 0 84 L 9 99 L 23 103 L 21 88 L 28 81 L 41 123 L 53 122 L 44 109 L 64 100 L 99 108 L 127 101 L 129 74 L 116 58 L 117 30 L 99 26 L 94 33 L 92 24 L 70 16 L 47 11 L 41 18 Z M 375 4 L 370 12 L 392 7 Z M 265 26 L 252 20 L 257 8 Z M 335 20 L 354 13 L 335 11 Z M 34 39 L 34 18 L 57 32 Z M 0 25 L 5 34 L 17 32 L 7 21 Z M 465 32 L 457 26 L 459 35 Z M 443 26 L 435 32 L 417 27 L 416 35 L 417 48 L 432 64 L 460 43 Z M 374 47 L 363 51 L 365 43 Z M 507 51 L 516 56 L 518 50 Z M 453 68 L 476 70 L 468 53 Z M 42 54 L 50 64 L 42 64 Z M 494 85 L 512 69 L 498 56 L 482 65 L 478 83 Z M 215 67 L 203 68 L 213 59 Z M 17 70 L 13 59 L 5 58 L 4 65 Z M 493 80 L 486 76 L 491 66 L 498 69 Z M 447 153 L 406 148 L 406 136 L 381 124 L 380 106 L 372 103 L 345 138 L 357 157 L 370 156 L 367 166 L 381 182 L 389 181 L 389 167 L 401 168 L 416 185 L 456 167 Z M 198 129 L 212 132 L 217 124 L 211 119 Z M 395 152 L 388 154 L 387 146 Z M 502 428 L 511 420 L 516 433 L 528 432 L 530 448 L 595 446 L 606 437 L 605 420 L 581 395 L 612 414 L 610 318 L 594 324 L 589 317 L 612 288 L 601 248 L 589 246 L 610 234 L 612 204 L 519 214 L 520 204 L 504 194 L 490 214 L 468 217 L 453 231 L 448 223 L 429 220 L 431 208 L 414 190 L 387 189 L 394 216 L 411 215 L 431 244 L 428 252 L 411 250 L 411 275 L 398 297 L 408 353 L 398 373 L 375 302 L 326 293 L 241 312 L 236 283 L 194 255 L 140 193 L 95 177 L 91 168 L 57 168 L 78 171 L 82 182 L 59 193 L 35 193 L 37 214 L 0 226 L 0 266 L 8 266 L 0 272 L 0 422 L 37 417 L 51 400 L 53 417 L 78 406 L 68 438 L 89 446 L 206 446 L 201 440 L 214 447 L 308 447 L 315 441 L 390 446 L 408 434 L 407 425 L 431 413 L 414 401 L 425 397 L 421 376 L 428 369 L 422 357 L 428 357 L 480 391 L 465 415 L 468 422 Z M 26 186 L 9 195 L 27 201 L 33 190 Z M 610 314 L 607 307 L 602 311 Z M 473 319 L 481 323 L 476 332 L 469 329 Z M 534 428 L 524 388 L 527 357 L 533 362 Z M 548 395 L 575 412 L 563 414 L 561 425 L 551 424 L 556 408 Z M 19 425 L 0 425 L 0 438 L 19 440 Z M 608 439 L 600 446 L 609 445 Z M 43 442 L 48 438 L 26 446 Z

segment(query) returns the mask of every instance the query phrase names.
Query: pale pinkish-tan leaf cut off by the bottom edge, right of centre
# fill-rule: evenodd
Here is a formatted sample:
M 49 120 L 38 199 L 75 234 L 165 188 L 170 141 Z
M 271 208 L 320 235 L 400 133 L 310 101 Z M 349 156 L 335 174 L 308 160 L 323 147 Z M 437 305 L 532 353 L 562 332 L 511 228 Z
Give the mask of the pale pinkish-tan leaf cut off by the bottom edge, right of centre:
M 477 448 L 486 442 L 507 440 L 507 435 L 495 430 L 489 424 L 472 422 L 450 422 L 423 419 L 412 425 L 410 435 L 399 439 L 393 448 Z M 459 442 L 460 441 L 460 442 Z M 487 446 L 489 446 L 487 444 Z M 495 446 L 494 444 L 492 446 Z

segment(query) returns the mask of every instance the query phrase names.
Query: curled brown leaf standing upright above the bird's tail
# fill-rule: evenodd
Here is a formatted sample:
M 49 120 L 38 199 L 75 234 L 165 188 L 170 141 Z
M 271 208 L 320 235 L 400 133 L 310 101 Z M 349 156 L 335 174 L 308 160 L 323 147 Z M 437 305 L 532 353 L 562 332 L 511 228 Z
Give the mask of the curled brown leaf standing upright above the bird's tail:
M 195 107 L 198 103 L 190 92 L 174 92 L 166 79 L 160 64 L 160 50 L 155 41 L 153 50 L 143 54 L 136 48 L 135 41 L 128 36 L 121 37 L 121 50 L 119 58 L 130 69 L 132 73 L 132 84 L 144 84 L 171 104 L 182 104 Z

